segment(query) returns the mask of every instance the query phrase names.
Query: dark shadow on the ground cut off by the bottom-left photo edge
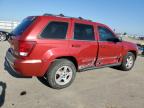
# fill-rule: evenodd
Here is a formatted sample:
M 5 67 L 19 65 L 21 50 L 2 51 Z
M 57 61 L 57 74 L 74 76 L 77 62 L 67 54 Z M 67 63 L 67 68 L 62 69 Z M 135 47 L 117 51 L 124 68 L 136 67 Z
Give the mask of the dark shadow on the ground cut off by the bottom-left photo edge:
M 0 81 L 0 108 L 3 106 L 5 102 L 5 93 L 6 93 L 6 83 Z

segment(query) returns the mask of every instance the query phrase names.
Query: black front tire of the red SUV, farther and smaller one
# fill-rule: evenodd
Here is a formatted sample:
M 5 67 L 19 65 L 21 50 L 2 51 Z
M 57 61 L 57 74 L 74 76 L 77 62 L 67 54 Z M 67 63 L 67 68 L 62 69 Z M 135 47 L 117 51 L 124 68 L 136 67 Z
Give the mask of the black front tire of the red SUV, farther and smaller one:
M 133 63 L 130 67 L 127 67 L 126 64 L 127 64 L 127 59 L 129 57 L 132 57 L 133 59 Z M 119 69 L 120 70 L 123 70 L 123 71 L 129 71 L 133 68 L 134 66 L 134 63 L 135 63 L 135 55 L 132 53 L 132 52 L 128 52 L 126 56 L 124 56 L 123 58 L 123 61 L 122 61 L 122 64 L 119 66 Z

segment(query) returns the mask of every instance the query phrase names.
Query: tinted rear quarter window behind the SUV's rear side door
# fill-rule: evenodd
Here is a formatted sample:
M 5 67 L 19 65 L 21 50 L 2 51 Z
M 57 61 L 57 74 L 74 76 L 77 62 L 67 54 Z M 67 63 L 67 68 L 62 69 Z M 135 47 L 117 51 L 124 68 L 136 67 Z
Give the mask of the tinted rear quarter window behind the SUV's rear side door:
M 50 22 L 41 33 L 41 37 L 49 39 L 65 39 L 68 23 Z

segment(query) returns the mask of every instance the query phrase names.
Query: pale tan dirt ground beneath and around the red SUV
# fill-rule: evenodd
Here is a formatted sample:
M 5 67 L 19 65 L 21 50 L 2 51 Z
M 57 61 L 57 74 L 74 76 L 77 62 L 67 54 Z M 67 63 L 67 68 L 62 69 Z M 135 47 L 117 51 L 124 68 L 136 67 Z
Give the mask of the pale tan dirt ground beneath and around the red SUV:
M 0 42 L 2 108 L 144 108 L 144 57 L 123 72 L 112 68 L 77 73 L 73 84 L 51 89 L 37 78 L 15 78 L 4 70 L 7 42 Z

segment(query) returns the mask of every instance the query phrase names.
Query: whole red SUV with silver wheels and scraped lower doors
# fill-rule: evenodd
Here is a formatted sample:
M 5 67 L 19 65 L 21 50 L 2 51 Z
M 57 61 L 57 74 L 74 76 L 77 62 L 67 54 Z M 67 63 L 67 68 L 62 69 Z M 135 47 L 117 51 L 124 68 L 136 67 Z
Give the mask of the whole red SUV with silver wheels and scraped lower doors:
M 8 39 L 6 61 L 23 76 L 43 77 L 55 89 L 69 86 L 77 71 L 101 67 L 130 70 L 137 46 L 106 25 L 63 15 L 25 18 Z

